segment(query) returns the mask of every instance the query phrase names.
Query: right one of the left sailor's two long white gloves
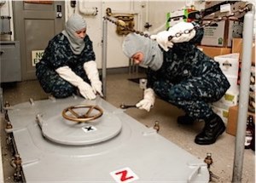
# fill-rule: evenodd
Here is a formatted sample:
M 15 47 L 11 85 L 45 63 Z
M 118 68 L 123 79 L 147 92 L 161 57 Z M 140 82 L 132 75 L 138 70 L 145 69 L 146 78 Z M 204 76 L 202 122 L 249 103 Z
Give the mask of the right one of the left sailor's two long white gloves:
M 84 63 L 84 71 L 87 74 L 87 77 L 90 79 L 90 85 L 93 89 L 93 92 L 96 94 L 102 94 L 102 82 L 100 81 L 99 71 L 97 69 L 96 61 L 88 61 Z

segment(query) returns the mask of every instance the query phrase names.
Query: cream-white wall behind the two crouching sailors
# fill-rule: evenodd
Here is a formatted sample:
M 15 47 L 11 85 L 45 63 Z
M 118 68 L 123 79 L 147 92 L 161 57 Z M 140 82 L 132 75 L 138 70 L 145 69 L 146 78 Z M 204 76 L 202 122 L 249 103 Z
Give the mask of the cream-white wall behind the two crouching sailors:
M 254 3 L 253 0 L 249 0 Z M 1 2 L 1 1 L 0 1 Z M 6 3 L 1 8 L 1 15 L 12 15 L 11 1 L 5 1 Z M 106 9 L 112 9 L 113 13 L 129 13 L 135 14 L 135 29 L 138 31 L 147 31 L 144 29 L 146 22 L 149 22 L 152 26 L 148 30 L 150 34 L 154 34 L 158 31 L 166 29 L 166 13 L 172 12 L 176 9 L 183 9 L 185 6 L 195 5 L 196 9 L 204 9 L 204 1 L 201 0 L 83 0 L 77 1 L 76 8 L 70 7 L 70 1 L 66 2 L 66 20 L 68 17 L 75 13 L 82 14 L 87 21 L 87 32 L 90 35 L 90 39 L 93 41 L 94 50 L 96 53 L 96 62 L 98 67 L 102 67 L 102 17 L 106 15 Z M 98 9 L 98 14 L 90 15 L 83 14 L 85 10 L 87 12 L 93 12 L 94 8 Z M 81 11 L 80 11 L 80 10 Z M 121 45 L 124 36 L 119 36 L 115 32 L 116 26 L 108 22 L 108 58 L 107 67 L 123 67 L 128 66 L 128 59 L 122 52 Z M 11 30 L 13 31 L 13 24 L 11 24 Z M 255 24 L 254 24 L 255 30 Z M 255 31 L 254 31 L 255 32 Z M 12 35 L 12 40 L 15 37 Z

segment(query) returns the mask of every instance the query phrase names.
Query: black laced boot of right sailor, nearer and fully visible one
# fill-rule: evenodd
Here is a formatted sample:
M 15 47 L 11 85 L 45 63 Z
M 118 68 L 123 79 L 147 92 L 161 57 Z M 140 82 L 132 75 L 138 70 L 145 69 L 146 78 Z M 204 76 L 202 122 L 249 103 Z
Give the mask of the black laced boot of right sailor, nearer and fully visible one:
M 213 144 L 218 136 L 224 133 L 225 129 L 222 119 L 214 113 L 209 119 L 205 120 L 204 129 L 195 136 L 195 143 L 199 145 Z

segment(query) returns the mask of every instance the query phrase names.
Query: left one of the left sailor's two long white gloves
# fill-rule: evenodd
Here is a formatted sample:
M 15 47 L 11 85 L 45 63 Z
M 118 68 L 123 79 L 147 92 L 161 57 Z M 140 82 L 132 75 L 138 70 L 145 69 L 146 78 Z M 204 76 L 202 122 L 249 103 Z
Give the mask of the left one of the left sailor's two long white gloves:
M 93 90 L 90 87 L 90 84 L 84 82 L 84 80 L 76 75 L 68 66 L 62 66 L 55 71 L 60 75 L 61 78 L 73 84 L 73 86 L 78 87 L 80 94 L 82 94 L 85 99 L 96 99 L 96 94 L 94 94 Z

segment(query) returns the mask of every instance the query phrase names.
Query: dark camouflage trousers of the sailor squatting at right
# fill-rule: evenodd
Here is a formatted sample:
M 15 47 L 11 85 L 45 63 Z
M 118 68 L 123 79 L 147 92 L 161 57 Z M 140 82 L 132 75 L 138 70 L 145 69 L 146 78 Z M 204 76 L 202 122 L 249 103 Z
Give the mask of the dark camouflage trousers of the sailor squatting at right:
M 212 78 L 213 81 L 214 79 Z M 229 83 L 225 84 L 229 86 Z M 166 81 L 154 83 L 154 92 L 160 98 L 183 109 L 189 117 L 195 119 L 206 119 L 212 116 L 213 112 L 209 104 L 219 100 L 225 91 L 226 87 L 218 87 L 218 84 L 208 83 L 203 79 L 188 79 L 178 84 Z

